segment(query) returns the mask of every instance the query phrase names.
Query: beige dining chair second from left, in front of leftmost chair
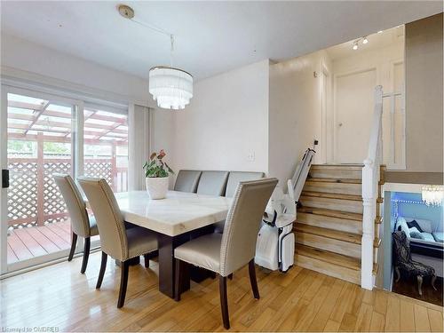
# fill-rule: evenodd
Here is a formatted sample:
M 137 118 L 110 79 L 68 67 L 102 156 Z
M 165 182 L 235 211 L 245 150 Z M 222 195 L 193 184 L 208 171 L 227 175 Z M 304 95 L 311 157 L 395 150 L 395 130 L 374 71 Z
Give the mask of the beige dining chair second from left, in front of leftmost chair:
M 102 261 L 96 289 L 100 289 L 102 284 L 107 256 L 120 261 L 122 271 L 117 307 L 121 308 L 125 302 L 128 285 L 129 260 L 144 255 L 147 266 L 149 253 L 157 250 L 157 238 L 154 233 L 141 226 L 125 229 L 122 212 L 105 179 L 81 177 L 78 181 L 88 198 L 99 227 Z

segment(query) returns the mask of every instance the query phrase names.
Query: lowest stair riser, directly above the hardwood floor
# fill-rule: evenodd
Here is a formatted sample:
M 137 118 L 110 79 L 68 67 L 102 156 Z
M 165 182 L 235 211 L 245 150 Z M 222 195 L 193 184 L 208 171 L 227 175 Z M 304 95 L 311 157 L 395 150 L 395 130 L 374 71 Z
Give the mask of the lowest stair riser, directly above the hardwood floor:
M 337 279 L 361 285 L 360 271 L 355 271 L 353 269 L 344 266 L 330 264 L 323 260 L 318 260 L 316 258 L 311 258 L 311 257 L 305 257 L 298 254 L 296 254 L 295 260 L 296 260 L 295 264 L 297 266 L 301 266 L 307 269 L 311 269 L 315 272 L 319 272 L 321 274 L 326 274 L 329 276 L 336 277 Z

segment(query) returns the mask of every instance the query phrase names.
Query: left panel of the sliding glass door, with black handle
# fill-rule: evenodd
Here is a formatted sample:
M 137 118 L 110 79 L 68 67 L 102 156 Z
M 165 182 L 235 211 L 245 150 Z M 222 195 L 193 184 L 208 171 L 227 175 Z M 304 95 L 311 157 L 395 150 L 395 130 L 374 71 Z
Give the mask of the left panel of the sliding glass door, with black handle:
M 75 177 L 77 113 L 82 103 L 3 88 L 2 169 L 9 170 L 9 187 L 6 193 L 2 190 L 7 210 L 2 217 L 2 250 L 7 271 L 14 271 L 64 257 L 70 248 L 69 215 L 52 174 Z M 2 113 L 4 119 L 4 109 Z

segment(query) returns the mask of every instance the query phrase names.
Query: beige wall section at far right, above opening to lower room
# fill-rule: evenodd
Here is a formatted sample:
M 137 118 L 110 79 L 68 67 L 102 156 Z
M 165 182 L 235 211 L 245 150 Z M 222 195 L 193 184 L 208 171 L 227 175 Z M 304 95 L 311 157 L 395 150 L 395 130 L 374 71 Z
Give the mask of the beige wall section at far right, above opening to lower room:
M 406 25 L 407 170 L 443 170 L 443 14 Z M 442 182 L 442 180 L 441 180 Z

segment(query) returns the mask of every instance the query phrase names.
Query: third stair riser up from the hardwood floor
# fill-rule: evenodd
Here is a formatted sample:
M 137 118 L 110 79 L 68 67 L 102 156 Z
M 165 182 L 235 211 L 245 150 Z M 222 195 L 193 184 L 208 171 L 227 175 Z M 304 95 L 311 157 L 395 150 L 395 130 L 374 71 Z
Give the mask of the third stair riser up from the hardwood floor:
M 297 212 L 297 223 L 345 231 L 347 233 L 362 234 L 362 222 L 351 219 L 331 218 L 322 215 Z

